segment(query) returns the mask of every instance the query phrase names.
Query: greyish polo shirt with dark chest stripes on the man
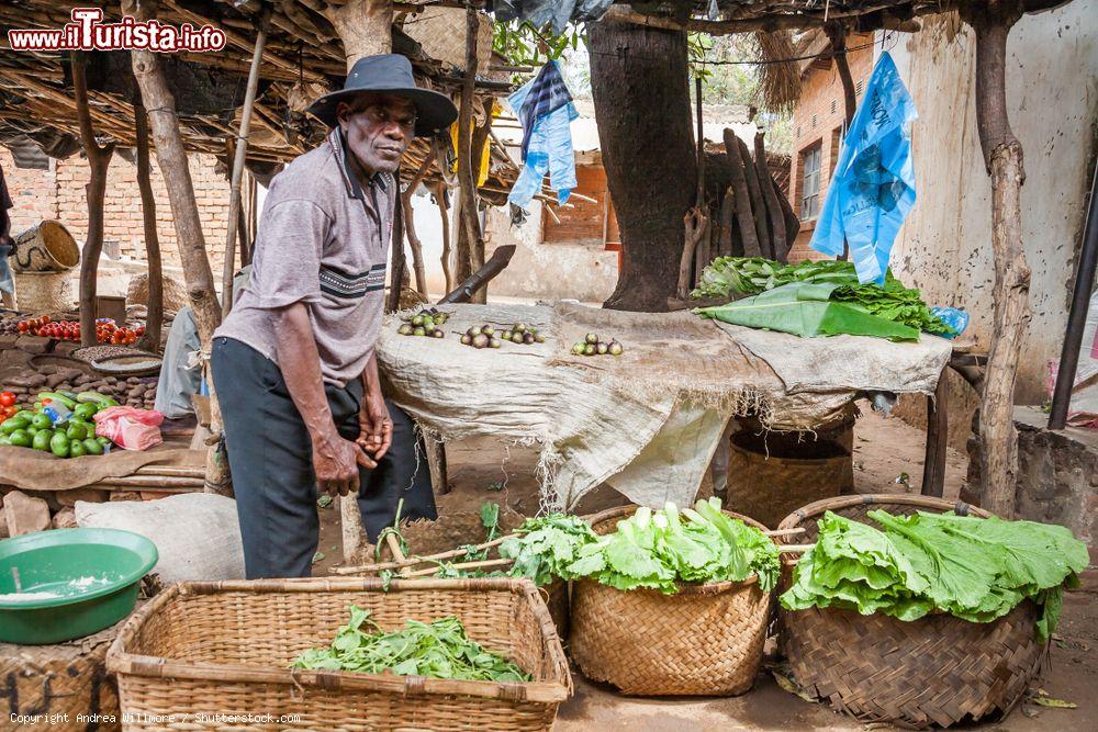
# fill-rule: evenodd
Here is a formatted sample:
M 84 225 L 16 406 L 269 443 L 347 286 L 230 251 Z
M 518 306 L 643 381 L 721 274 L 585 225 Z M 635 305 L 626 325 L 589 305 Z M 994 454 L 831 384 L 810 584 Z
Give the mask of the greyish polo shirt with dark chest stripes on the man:
M 324 381 L 358 379 L 373 352 L 384 307 L 396 181 L 361 187 L 336 127 L 271 181 L 251 275 L 214 336 L 235 338 L 274 363 L 276 309 L 304 303 Z

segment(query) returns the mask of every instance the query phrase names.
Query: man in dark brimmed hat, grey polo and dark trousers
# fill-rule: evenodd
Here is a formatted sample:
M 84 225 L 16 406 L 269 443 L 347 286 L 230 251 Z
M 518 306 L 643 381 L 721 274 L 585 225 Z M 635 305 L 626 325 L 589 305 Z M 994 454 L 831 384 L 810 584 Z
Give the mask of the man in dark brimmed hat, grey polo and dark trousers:
M 370 541 L 401 498 L 402 518 L 435 518 L 414 425 L 381 394 L 374 344 L 394 173 L 414 135 L 458 113 L 395 54 L 358 60 L 310 112 L 330 133 L 272 180 L 211 357 L 249 578 L 310 575 L 318 492 L 357 492 Z

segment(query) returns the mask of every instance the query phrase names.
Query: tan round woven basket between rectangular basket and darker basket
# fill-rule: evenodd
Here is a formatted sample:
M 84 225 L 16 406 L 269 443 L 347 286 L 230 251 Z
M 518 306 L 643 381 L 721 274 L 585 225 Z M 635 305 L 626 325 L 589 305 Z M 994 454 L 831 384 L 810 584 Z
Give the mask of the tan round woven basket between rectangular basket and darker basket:
M 614 530 L 636 506 L 591 518 L 596 533 Z M 765 530 L 750 518 L 729 516 Z M 766 640 L 770 594 L 744 582 L 682 585 L 674 595 L 623 592 L 594 579 L 572 584 L 569 650 L 587 678 L 625 694 L 736 695 L 754 684 Z

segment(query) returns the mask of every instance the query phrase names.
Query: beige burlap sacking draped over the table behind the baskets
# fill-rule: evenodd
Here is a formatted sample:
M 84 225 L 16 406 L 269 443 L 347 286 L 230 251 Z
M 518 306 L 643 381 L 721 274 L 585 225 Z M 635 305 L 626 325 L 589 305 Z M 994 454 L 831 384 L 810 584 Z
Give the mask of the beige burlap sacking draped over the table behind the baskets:
M 859 390 L 932 392 L 950 353 L 938 338 L 797 338 L 685 312 L 565 303 L 441 309 L 451 313 L 445 339 L 401 336 L 396 317 L 382 329 L 378 359 L 395 402 L 440 439 L 539 443 L 542 499 L 551 508 L 574 506 L 602 482 L 638 504 L 684 504 L 731 416 L 811 429 Z M 546 342 L 483 350 L 459 342 L 467 328 L 485 323 L 526 323 Z M 625 353 L 572 356 L 587 333 L 618 340 Z M 829 358 L 834 347 L 843 368 Z

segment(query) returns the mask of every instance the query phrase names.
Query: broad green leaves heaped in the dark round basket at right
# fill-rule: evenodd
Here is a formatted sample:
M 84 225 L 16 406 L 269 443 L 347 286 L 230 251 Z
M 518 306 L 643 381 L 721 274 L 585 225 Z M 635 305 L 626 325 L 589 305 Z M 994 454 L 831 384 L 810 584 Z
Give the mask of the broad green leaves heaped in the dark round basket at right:
M 782 607 L 836 607 L 917 620 L 941 610 L 990 622 L 1026 598 L 1043 608 L 1037 635 L 1056 629 L 1063 586 L 1086 568 L 1086 544 L 1062 526 L 953 514 L 870 511 L 878 530 L 830 511 L 793 573 Z

